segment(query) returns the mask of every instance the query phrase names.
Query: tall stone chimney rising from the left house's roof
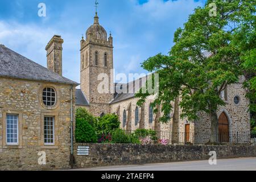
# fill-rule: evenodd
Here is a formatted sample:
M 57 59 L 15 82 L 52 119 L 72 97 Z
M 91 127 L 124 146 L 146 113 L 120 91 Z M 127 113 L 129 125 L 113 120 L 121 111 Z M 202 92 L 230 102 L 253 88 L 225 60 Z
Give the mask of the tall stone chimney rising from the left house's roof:
M 54 35 L 46 46 L 47 68 L 62 76 L 62 44 L 60 35 Z

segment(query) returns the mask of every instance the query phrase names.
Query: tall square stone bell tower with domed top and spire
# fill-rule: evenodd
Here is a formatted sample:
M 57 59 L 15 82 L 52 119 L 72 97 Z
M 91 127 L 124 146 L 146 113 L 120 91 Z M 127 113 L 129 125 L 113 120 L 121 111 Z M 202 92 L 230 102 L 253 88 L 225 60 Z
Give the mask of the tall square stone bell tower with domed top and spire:
M 109 102 L 114 97 L 111 92 L 113 85 L 113 38 L 111 34 L 107 38 L 104 27 L 98 21 L 97 5 L 96 1 L 94 23 L 86 31 L 85 40 L 84 37 L 81 40 L 81 90 L 89 102 L 90 113 L 100 116 L 110 113 Z M 108 83 L 104 85 L 104 93 L 101 90 L 102 81 Z

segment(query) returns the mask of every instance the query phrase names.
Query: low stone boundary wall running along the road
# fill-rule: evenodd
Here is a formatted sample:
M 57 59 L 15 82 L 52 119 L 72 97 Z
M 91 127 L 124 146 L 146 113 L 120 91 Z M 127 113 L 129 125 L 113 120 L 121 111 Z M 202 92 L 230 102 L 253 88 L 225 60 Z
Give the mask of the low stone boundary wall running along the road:
M 77 155 L 78 146 L 88 146 L 89 155 Z M 208 160 L 210 151 L 217 152 L 218 159 L 256 156 L 256 146 L 162 146 L 138 144 L 86 144 L 76 143 L 75 167 L 87 168 L 123 164 L 164 163 L 186 160 Z

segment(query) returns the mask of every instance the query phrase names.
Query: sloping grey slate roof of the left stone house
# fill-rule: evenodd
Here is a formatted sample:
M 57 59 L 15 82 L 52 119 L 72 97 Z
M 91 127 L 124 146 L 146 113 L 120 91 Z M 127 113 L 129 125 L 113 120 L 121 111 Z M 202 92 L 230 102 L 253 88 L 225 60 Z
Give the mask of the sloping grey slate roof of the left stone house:
M 3 45 L 0 45 L 0 77 L 79 85 Z

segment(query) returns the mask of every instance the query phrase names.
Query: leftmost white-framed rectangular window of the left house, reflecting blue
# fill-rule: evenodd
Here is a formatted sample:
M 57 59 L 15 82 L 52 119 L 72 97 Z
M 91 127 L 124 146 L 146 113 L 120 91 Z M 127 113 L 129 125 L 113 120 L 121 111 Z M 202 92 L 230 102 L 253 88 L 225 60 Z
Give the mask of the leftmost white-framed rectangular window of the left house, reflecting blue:
M 6 115 L 6 143 L 9 145 L 15 145 L 19 143 L 18 140 L 18 115 L 7 114 Z

